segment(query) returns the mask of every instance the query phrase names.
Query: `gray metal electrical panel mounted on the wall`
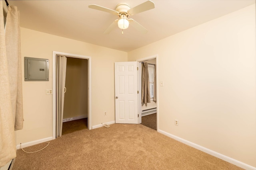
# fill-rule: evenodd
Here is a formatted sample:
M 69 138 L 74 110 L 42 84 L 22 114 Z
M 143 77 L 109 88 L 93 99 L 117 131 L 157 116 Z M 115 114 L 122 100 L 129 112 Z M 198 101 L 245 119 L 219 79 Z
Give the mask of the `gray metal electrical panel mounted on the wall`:
M 25 81 L 49 81 L 49 59 L 24 57 Z

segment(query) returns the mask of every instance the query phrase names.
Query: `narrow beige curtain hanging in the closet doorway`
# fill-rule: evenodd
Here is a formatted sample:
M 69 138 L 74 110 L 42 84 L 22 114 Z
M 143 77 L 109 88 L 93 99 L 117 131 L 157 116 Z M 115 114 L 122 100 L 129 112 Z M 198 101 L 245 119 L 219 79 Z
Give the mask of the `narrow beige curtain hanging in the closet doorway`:
M 66 81 L 67 58 L 64 56 L 56 56 L 56 136 L 62 135 L 62 121 L 64 110 L 64 91 Z

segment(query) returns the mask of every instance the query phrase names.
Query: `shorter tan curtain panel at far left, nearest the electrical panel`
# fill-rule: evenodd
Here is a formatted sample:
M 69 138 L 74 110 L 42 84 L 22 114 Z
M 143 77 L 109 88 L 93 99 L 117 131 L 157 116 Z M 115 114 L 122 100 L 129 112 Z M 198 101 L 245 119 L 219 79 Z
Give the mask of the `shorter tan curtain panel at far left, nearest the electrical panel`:
M 6 55 L 8 62 L 14 130 L 23 128 L 22 73 L 20 54 L 20 13 L 16 6 L 8 6 L 6 18 Z

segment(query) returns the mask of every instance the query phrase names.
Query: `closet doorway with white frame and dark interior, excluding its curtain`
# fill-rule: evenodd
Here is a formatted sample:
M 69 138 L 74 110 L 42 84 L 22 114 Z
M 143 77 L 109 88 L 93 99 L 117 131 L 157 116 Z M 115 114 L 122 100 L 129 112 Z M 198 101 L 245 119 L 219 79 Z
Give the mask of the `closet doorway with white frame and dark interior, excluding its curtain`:
M 58 91 L 60 68 L 57 66 L 60 55 L 66 57 L 66 80 L 65 87 L 62 87 L 65 88 L 62 121 L 58 114 L 60 97 L 56 96 L 60 93 Z M 57 137 L 60 127 L 62 135 L 79 130 L 79 128 L 92 129 L 91 70 L 91 57 L 53 52 L 53 139 Z

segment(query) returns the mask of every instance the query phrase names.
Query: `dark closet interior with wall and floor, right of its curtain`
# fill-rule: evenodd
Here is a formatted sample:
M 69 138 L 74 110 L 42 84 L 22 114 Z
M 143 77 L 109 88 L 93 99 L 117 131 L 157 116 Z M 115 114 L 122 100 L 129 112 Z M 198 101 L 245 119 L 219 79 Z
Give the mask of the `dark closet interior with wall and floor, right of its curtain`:
M 87 129 L 88 60 L 66 57 L 62 135 Z

